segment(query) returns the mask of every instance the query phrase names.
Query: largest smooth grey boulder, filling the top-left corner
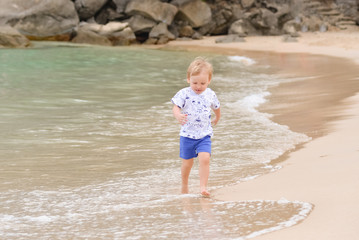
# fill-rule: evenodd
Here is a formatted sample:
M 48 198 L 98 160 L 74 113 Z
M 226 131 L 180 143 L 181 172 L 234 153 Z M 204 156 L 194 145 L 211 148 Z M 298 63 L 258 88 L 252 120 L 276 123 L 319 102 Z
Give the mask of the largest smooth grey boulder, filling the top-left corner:
M 0 23 L 11 25 L 31 39 L 61 36 L 61 39 L 68 40 L 79 23 L 74 3 L 70 0 L 0 2 Z

